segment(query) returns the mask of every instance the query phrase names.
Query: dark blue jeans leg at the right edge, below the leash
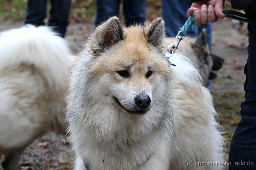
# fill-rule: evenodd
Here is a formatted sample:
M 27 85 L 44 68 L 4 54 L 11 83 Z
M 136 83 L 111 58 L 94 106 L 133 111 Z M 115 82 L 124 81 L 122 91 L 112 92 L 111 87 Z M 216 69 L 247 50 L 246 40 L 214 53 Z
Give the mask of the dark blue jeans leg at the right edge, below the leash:
M 241 120 L 230 145 L 230 170 L 256 170 L 256 23 L 249 22 L 248 59 L 244 68 L 245 101 L 241 103 Z M 253 162 L 253 166 L 234 166 L 236 162 Z

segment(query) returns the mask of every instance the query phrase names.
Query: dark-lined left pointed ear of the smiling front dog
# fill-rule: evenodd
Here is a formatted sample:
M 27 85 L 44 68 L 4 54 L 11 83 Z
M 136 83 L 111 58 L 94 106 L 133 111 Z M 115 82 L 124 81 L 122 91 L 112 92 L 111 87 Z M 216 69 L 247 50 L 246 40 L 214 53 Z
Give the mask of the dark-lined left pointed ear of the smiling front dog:
M 124 39 L 124 31 L 118 17 L 111 17 L 95 29 L 90 48 L 94 53 L 109 48 Z

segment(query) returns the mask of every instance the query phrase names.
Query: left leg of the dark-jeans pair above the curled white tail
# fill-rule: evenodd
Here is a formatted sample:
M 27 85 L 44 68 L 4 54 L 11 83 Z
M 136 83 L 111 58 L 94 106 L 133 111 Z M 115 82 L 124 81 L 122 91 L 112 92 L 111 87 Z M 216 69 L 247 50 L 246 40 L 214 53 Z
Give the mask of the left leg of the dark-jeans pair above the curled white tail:
M 47 0 L 28 0 L 25 24 L 44 25 Z

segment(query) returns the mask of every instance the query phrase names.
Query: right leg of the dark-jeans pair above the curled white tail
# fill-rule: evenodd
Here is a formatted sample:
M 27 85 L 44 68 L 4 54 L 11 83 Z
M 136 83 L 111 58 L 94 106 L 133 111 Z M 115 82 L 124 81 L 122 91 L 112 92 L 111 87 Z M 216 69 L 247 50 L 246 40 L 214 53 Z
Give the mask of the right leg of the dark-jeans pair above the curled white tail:
M 51 5 L 48 26 L 52 26 L 54 31 L 64 37 L 68 26 L 71 0 L 51 0 Z

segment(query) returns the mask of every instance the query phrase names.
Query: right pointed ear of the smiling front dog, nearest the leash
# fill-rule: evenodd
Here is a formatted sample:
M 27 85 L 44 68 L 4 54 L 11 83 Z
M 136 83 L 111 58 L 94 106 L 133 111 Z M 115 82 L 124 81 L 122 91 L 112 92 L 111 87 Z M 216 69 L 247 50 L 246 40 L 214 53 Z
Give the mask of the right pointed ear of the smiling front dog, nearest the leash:
M 161 17 L 147 23 L 144 26 L 144 34 L 148 43 L 154 45 L 158 50 L 162 49 L 164 38 L 164 23 Z

